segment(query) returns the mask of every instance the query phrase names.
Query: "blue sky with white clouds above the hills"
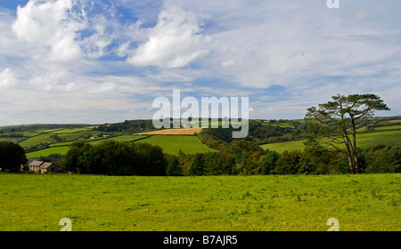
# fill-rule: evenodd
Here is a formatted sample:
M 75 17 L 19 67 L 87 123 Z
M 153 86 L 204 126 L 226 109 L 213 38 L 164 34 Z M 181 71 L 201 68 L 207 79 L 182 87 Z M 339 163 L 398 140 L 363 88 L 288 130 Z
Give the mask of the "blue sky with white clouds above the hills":
M 0 125 L 150 119 L 156 97 L 303 118 L 342 94 L 401 114 L 401 1 L 1 0 Z

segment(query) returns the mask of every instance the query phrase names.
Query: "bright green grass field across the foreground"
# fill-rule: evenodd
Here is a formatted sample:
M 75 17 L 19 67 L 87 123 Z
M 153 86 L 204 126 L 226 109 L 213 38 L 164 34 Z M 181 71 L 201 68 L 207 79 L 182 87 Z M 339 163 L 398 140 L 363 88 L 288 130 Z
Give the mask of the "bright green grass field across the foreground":
M 0 230 L 401 230 L 401 175 L 0 174 Z

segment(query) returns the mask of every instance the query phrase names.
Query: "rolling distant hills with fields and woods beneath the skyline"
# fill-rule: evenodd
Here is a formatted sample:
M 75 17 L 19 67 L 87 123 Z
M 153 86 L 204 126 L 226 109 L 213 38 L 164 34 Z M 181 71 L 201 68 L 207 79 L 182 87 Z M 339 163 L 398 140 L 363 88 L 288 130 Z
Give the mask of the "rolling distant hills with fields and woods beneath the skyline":
M 211 124 L 211 121 L 209 121 L 209 124 Z M 0 141 L 17 142 L 29 155 L 32 154 L 36 157 L 41 156 L 41 154 L 45 156 L 65 154 L 73 141 L 95 143 L 106 139 L 119 141 L 142 140 L 155 144 L 160 143 L 162 146 L 166 145 L 168 151 L 173 151 L 170 148 L 174 148 L 177 151 L 180 148 L 183 151 L 192 148 L 188 150 L 189 153 L 190 151 L 196 152 L 197 148 L 200 151 L 205 151 L 205 148 L 200 147 L 199 142 L 207 145 L 209 149 L 220 150 L 233 141 L 233 128 L 221 128 L 221 120 L 218 121 L 218 124 L 220 125 L 219 128 L 197 130 L 196 136 L 199 140 L 186 140 L 177 137 L 168 139 L 168 143 L 157 138 L 157 136 L 163 136 L 167 133 L 162 131 L 163 129 L 156 129 L 151 120 L 145 119 L 126 120 L 115 124 L 20 124 L 0 127 Z M 306 123 L 299 119 L 252 119 L 250 120 L 249 135 L 245 140 L 254 141 L 258 145 L 262 145 L 264 149 L 301 149 L 303 141 L 306 139 L 306 128 Z M 399 136 L 401 115 L 364 118 L 358 120 L 356 128 L 360 134 L 359 136 L 364 138 L 360 143 L 361 146 L 364 144 L 366 146 L 374 146 L 377 143 L 401 141 Z M 138 134 L 142 133 L 143 136 L 138 136 Z M 389 136 L 386 137 L 388 133 Z M 153 139 L 144 139 L 144 137 L 150 135 L 155 137 Z M 193 146 L 185 144 L 189 141 L 194 143 Z M 172 144 L 172 142 L 177 144 Z

